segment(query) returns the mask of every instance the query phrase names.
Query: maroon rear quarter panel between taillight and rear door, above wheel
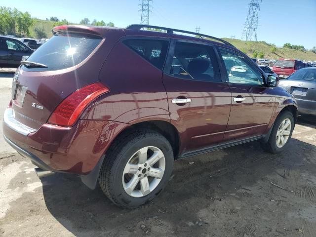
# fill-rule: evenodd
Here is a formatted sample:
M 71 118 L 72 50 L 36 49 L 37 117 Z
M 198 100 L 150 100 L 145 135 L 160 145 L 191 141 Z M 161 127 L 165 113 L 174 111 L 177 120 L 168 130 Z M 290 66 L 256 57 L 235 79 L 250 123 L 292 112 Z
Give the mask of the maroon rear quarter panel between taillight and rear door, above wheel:
M 170 121 L 162 71 L 122 42 L 114 47 L 99 78 L 110 92 L 89 106 L 81 119 L 138 123 Z

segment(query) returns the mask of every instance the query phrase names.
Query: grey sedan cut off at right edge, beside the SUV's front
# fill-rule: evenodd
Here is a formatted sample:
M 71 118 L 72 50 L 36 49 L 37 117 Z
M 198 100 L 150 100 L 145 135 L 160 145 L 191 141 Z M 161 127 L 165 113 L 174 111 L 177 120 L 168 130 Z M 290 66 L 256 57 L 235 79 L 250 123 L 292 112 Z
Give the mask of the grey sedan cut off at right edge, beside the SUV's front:
M 316 115 L 316 68 L 300 69 L 279 86 L 295 97 L 300 114 Z

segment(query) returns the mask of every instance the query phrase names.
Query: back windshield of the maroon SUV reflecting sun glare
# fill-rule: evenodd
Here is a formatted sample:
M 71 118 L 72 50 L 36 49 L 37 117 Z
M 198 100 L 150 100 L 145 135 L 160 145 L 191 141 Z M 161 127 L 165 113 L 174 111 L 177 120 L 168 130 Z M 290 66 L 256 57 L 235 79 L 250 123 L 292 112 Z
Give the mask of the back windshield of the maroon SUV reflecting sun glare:
M 41 63 L 47 68 L 27 68 L 25 71 L 53 71 L 73 67 L 86 59 L 102 38 L 81 34 L 58 34 L 40 46 L 28 61 Z

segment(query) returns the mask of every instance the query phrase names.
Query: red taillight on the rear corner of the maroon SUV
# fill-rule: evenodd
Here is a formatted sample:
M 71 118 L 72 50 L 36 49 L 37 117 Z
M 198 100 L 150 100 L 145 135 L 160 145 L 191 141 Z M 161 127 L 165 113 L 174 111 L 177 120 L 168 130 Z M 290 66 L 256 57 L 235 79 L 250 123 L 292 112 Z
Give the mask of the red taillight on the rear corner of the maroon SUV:
M 63 100 L 49 117 L 48 122 L 60 126 L 72 126 L 82 111 L 98 96 L 109 92 L 109 88 L 97 82 L 76 90 Z

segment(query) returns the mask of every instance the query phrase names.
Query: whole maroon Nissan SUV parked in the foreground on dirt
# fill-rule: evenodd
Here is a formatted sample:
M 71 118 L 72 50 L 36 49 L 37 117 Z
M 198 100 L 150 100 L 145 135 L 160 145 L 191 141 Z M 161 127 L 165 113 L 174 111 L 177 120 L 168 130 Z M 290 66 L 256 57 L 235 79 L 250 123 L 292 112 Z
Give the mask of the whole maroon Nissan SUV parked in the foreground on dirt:
M 284 150 L 297 105 L 276 77 L 224 40 L 143 27 L 58 26 L 21 62 L 4 138 L 40 176 L 79 174 L 137 207 L 165 187 L 175 159 L 254 140 Z

